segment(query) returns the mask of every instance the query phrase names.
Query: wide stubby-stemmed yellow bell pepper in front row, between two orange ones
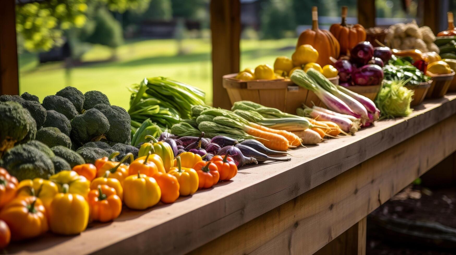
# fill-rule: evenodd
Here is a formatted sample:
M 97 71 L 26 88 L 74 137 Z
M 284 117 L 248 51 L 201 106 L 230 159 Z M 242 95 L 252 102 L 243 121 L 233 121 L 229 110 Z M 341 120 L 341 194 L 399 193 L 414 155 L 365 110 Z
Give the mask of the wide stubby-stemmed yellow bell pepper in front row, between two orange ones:
M 153 177 L 138 173 L 124 181 L 124 203 L 128 208 L 143 210 L 160 201 L 161 189 Z

